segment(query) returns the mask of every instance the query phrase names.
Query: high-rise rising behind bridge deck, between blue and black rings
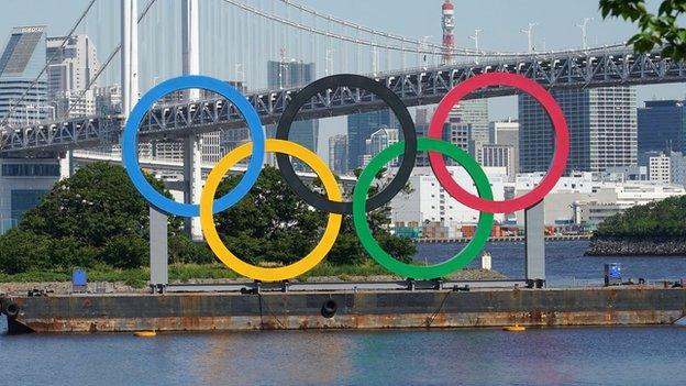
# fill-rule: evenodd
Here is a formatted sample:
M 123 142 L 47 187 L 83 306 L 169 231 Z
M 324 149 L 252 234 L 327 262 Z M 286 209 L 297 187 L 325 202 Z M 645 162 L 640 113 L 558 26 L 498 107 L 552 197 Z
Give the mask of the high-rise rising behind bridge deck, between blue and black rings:
M 267 63 L 267 87 L 269 89 L 284 89 L 289 87 L 305 86 L 314 80 L 314 64 L 302 62 L 279 62 L 269 60 Z M 268 135 L 274 136 L 276 126 L 268 128 Z M 317 152 L 317 143 L 319 141 L 319 121 L 296 121 L 290 126 L 288 139 L 299 143 L 305 147 Z M 294 165 L 302 167 L 303 165 L 294 161 Z

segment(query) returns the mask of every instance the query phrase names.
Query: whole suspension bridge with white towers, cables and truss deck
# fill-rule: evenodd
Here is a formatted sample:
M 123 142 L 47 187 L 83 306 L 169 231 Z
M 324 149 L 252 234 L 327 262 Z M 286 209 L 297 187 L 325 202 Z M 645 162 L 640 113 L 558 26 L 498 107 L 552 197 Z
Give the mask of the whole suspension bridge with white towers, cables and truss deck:
M 119 9 L 112 9 L 112 4 Z M 78 33 L 89 31 L 88 25 L 91 30 L 96 26 L 96 31 L 118 29 L 120 38 L 110 42 L 110 54 L 73 107 L 99 80 L 108 85 L 118 81 L 121 111 L 88 115 L 78 114 L 70 107 L 49 120 L 27 124 L 12 121 L 12 112 L 22 108 L 31 88 L 44 77 L 52 60 L 47 57 L 33 85 L 0 121 L 0 157 L 65 157 L 71 151 L 111 148 L 120 142 L 128 112 L 140 91 L 179 74 L 210 75 L 240 85 L 265 125 L 277 122 L 298 90 L 309 82 L 305 79 L 283 82 L 281 67 L 292 62 L 316 64 L 320 73 L 313 78 L 341 73 L 366 75 L 386 85 L 408 107 L 438 103 L 458 82 L 486 73 L 520 74 L 549 89 L 686 81 L 684 63 L 662 57 L 659 52 L 637 54 L 623 43 L 600 47 L 587 47 L 584 43 L 582 48 L 544 52 L 533 51 L 530 43 L 527 52 L 502 52 L 478 47 L 478 43 L 473 48 L 456 46 L 445 36 L 443 44 L 432 43 L 427 36 L 401 36 L 294 0 L 208 0 L 201 4 L 198 0 L 147 0 L 139 12 L 137 0 L 90 0 L 64 36 L 62 46 Z M 114 19 L 111 14 L 120 15 L 118 25 L 108 24 Z M 454 26 L 452 13 L 446 14 L 445 8 L 443 26 L 444 33 L 452 32 Z M 531 40 L 531 27 L 528 33 Z M 169 60 L 170 57 L 178 60 Z M 268 71 L 264 64 L 269 60 L 277 63 L 278 81 L 265 85 Z M 468 98 L 516 93 L 514 89 L 489 87 Z M 314 96 L 297 119 L 342 117 L 385 108 L 373 93 L 339 87 Z M 244 126 L 243 118 L 230 101 L 201 97 L 198 90 L 189 90 L 180 102 L 163 101 L 154 106 L 140 125 L 139 140 L 182 142 L 184 163 L 147 159 L 145 165 L 181 169 L 185 201 L 197 202 L 203 167 L 207 168 L 201 161 L 203 134 Z M 102 156 L 84 152 L 76 159 L 88 162 Z M 118 161 L 114 153 L 106 157 Z M 200 236 L 198 224 L 192 228 Z

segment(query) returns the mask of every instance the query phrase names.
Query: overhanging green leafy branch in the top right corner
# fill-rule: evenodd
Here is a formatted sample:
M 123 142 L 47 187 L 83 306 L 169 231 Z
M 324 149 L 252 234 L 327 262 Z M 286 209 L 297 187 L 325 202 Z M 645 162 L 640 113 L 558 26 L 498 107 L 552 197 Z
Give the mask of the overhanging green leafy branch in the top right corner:
M 644 0 L 600 0 L 602 18 L 622 18 L 638 23 L 640 31 L 628 44 L 639 53 L 662 47 L 662 55 L 686 58 L 686 29 L 677 24 L 686 12 L 686 0 L 663 0 L 657 13 L 650 12 Z

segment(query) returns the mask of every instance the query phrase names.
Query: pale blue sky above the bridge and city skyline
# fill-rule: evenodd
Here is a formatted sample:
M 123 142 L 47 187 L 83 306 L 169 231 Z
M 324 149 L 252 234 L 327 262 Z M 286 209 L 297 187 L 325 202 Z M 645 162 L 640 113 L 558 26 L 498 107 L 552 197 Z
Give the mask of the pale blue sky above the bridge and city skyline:
M 248 49 L 243 41 L 247 43 L 253 38 L 251 46 L 258 46 L 262 43 L 254 43 L 254 34 L 273 34 L 274 31 L 265 30 L 259 32 L 258 24 L 247 25 L 244 20 L 235 16 L 230 18 L 228 9 L 233 5 L 226 4 L 223 0 L 199 0 L 201 9 L 201 68 L 207 75 L 218 77 L 233 77 L 235 64 L 231 62 L 240 60 L 244 63 L 244 71 L 250 73 L 246 78 L 257 86 L 265 85 L 264 79 L 266 66 L 261 63 L 251 62 L 250 58 L 237 58 L 240 51 Z M 253 7 L 265 10 L 279 10 L 284 8 L 279 0 L 241 0 Z M 292 0 L 309 8 L 317 9 L 322 13 L 330 13 L 338 18 L 351 22 L 374 27 L 412 38 L 428 37 L 429 41 L 439 43 L 441 41 L 441 4 L 443 0 Z M 79 32 L 88 33 L 96 38 L 98 52 L 101 60 L 104 60 L 109 52 L 119 43 L 119 0 L 98 0 L 96 7 Z M 141 8 L 146 1 L 141 0 Z M 655 9 L 659 0 L 649 0 L 649 8 Z M 11 12 L 3 12 L 0 18 L 0 42 L 7 41 L 9 32 L 15 25 L 45 24 L 48 26 L 51 35 L 65 34 L 75 19 L 85 9 L 88 0 L 2 0 L 3 9 Z M 589 45 L 613 44 L 626 41 L 637 30 L 634 25 L 620 20 L 604 21 L 598 11 L 598 0 L 454 0 L 455 3 L 455 41 L 458 46 L 474 46 L 474 41 L 469 36 L 474 35 L 475 29 L 480 29 L 479 47 L 490 51 L 524 52 L 527 51 L 527 36 L 520 32 L 528 23 L 536 25 L 533 29 L 533 45 L 536 49 L 563 49 L 579 47 L 582 45 L 580 29 L 575 24 L 580 23 L 584 18 L 594 18 L 588 24 Z M 179 75 L 180 58 L 178 56 L 179 44 L 175 36 L 178 36 L 179 29 L 169 12 L 164 10 L 175 9 L 178 11 L 180 0 L 157 0 L 150 14 L 150 21 L 141 26 L 140 34 L 142 44 L 148 47 L 148 52 L 164 52 L 175 60 L 163 60 L 162 64 L 155 60 L 142 60 L 141 78 L 146 82 L 142 86 L 151 86 L 159 78 Z M 218 11 L 220 10 L 220 11 Z M 221 11 L 223 10 L 223 11 Z M 204 12 L 204 13 L 203 13 Z M 287 14 L 291 19 L 298 20 L 297 14 Z M 164 23 L 167 22 L 168 30 Z M 242 26 L 243 25 L 243 26 Z M 322 27 L 322 25 L 319 25 Z M 236 43 L 225 44 L 225 52 L 219 52 L 215 47 L 209 46 L 203 38 L 208 34 L 217 34 L 223 31 L 226 34 L 237 34 L 237 30 L 247 30 L 251 33 L 240 35 L 237 43 L 243 44 L 239 48 Z M 167 37 L 167 41 L 163 41 Z M 259 40 L 259 37 L 257 37 Z M 267 42 L 268 38 L 265 38 Z M 281 43 L 283 44 L 283 43 Z M 296 45 L 297 47 L 297 45 Z M 156 49 L 156 51 L 155 51 Z M 256 47 L 255 49 L 264 49 Z M 290 53 L 300 49 L 302 55 L 308 47 L 290 48 Z M 317 48 L 309 47 L 314 56 Z M 142 49 L 144 51 L 144 49 Z M 278 57 L 276 48 L 272 49 L 274 57 Z M 318 76 L 323 76 L 325 65 L 322 51 L 317 54 Z M 250 52 L 248 52 L 250 53 Z M 343 55 L 343 53 L 339 53 Z M 250 55 L 246 55 L 250 56 Z M 226 65 L 226 63 L 230 63 Z M 409 65 L 412 65 L 410 63 Z M 108 75 L 108 80 L 118 78 L 113 73 Z M 683 99 L 686 95 L 686 87 L 683 84 L 666 86 L 644 86 L 638 88 L 639 106 L 644 100 L 650 99 Z M 491 120 L 504 119 L 517 115 L 516 98 L 496 98 L 489 101 L 489 118 Z M 327 133 L 320 135 L 320 150 L 324 146 L 329 134 L 336 134 L 345 131 L 344 119 L 332 119 L 321 126 Z

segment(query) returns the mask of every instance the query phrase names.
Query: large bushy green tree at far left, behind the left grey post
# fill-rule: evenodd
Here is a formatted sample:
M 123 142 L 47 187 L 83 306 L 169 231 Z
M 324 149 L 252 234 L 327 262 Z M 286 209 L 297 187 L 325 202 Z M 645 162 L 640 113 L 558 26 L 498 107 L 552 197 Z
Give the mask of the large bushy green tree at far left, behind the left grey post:
M 164 185 L 146 176 L 167 197 Z M 0 236 L 0 272 L 70 269 L 109 264 L 131 268 L 148 258 L 148 203 L 121 166 L 95 163 L 62 180 L 29 210 L 18 229 Z M 169 219 L 173 262 L 213 261 L 203 245 L 193 244 Z

